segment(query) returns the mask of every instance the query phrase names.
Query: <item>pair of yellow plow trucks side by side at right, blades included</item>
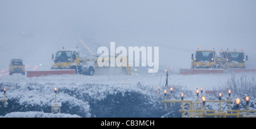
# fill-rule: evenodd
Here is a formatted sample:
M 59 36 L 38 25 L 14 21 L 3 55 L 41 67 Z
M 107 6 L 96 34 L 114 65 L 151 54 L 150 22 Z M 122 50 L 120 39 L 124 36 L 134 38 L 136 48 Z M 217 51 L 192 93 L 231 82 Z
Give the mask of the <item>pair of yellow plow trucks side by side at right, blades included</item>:
M 180 69 L 180 74 L 256 72 L 256 69 L 245 69 L 248 56 L 241 51 L 222 51 L 219 55 L 212 50 L 199 50 L 191 55 L 191 69 Z

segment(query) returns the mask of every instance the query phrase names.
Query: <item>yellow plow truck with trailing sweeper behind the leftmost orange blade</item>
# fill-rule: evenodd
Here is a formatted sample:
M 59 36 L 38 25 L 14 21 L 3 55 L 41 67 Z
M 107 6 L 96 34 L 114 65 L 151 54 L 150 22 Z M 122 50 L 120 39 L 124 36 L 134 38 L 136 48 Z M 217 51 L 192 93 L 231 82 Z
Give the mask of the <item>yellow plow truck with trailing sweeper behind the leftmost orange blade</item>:
M 54 64 L 51 69 L 75 69 L 77 74 L 84 74 L 93 76 L 97 74 L 109 74 L 109 73 L 125 73 L 131 74 L 131 68 L 127 67 L 100 67 L 97 64 L 99 55 L 92 55 L 87 57 L 86 55 L 80 55 L 77 50 L 61 50 L 57 51 L 56 55 L 52 55 Z M 57 70 L 61 72 L 60 70 Z M 117 72 L 118 71 L 118 72 Z

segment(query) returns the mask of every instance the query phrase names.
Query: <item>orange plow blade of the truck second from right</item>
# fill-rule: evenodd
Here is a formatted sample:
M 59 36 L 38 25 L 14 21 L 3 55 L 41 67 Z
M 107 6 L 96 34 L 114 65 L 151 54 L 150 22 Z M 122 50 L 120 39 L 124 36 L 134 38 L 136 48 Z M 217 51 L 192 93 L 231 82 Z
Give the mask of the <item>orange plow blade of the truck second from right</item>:
M 180 69 L 181 75 L 224 73 L 224 69 Z

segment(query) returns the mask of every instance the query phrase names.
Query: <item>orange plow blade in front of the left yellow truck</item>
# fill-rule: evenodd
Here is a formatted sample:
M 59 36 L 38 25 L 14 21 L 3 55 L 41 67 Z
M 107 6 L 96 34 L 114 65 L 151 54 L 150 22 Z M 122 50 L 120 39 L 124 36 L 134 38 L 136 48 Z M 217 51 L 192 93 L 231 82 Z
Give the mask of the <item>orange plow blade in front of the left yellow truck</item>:
M 46 71 L 27 71 L 27 77 L 40 77 L 60 74 L 76 74 L 75 69 L 70 70 L 46 70 Z

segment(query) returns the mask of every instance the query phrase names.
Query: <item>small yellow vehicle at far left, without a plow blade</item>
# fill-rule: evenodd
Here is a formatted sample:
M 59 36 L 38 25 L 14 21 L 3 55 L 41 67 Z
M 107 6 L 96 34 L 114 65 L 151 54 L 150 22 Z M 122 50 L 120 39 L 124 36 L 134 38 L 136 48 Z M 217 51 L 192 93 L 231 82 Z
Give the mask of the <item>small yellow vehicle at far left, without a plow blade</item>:
M 12 59 L 9 65 L 9 75 L 13 75 L 14 73 L 25 74 L 25 68 L 22 63 L 22 59 Z

